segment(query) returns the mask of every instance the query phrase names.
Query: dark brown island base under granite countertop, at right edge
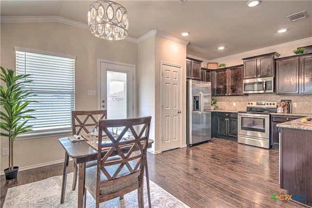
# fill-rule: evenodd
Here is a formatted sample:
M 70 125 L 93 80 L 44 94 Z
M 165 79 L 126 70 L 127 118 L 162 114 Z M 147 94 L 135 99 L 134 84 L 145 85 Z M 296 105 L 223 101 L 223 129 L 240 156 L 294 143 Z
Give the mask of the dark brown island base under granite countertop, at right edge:
M 312 131 L 281 128 L 280 188 L 312 206 Z

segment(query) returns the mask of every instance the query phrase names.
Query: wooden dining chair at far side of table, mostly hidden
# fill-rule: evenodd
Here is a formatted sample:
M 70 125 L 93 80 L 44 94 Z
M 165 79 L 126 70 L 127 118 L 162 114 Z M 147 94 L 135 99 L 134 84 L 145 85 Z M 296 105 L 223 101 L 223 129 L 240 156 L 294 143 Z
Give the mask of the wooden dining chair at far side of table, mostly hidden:
M 72 132 L 73 135 L 88 134 L 89 128 L 98 129 L 98 121 L 107 118 L 107 111 L 72 111 Z M 86 163 L 86 167 L 96 166 L 97 161 Z M 76 189 L 78 177 L 78 166 L 74 163 L 73 190 Z

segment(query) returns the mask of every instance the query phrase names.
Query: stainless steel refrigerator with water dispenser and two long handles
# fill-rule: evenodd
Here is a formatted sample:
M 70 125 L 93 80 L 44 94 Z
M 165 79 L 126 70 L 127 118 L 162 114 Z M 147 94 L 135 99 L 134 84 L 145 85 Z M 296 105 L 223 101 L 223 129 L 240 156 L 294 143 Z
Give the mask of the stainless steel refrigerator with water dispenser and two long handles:
M 211 82 L 188 79 L 187 146 L 211 141 Z

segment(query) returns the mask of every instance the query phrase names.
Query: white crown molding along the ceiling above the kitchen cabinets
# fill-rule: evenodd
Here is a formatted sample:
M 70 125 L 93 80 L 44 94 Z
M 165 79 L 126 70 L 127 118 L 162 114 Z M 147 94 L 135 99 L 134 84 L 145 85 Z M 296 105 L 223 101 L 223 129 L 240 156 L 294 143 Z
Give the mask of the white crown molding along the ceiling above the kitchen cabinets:
M 253 50 L 253 51 L 247 51 L 247 52 L 240 53 L 240 54 L 234 54 L 234 55 L 227 56 L 227 57 L 215 58 L 215 59 L 211 59 L 209 61 L 214 62 L 216 60 L 223 60 L 223 59 L 226 60 L 226 59 L 229 59 L 229 58 L 249 57 L 251 55 L 254 56 L 254 54 L 265 54 L 265 53 L 268 53 L 268 52 L 272 52 L 272 50 L 276 51 L 279 48 L 284 48 L 284 47 L 289 47 L 289 46 L 296 46 L 298 44 L 303 44 L 303 43 L 311 45 L 311 42 L 312 42 L 312 37 L 311 38 L 304 38 L 304 39 L 300 39 L 300 40 L 294 40 L 294 41 L 291 41 L 291 42 L 286 42 L 286 43 L 282 43 L 282 44 L 278 44 L 278 45 L 269 46 L 269 47 L 266 47 L 266 48 L 256 49 L 256 50 Z M 199 60 L 201 60 L 201 59 L 199 59 Z

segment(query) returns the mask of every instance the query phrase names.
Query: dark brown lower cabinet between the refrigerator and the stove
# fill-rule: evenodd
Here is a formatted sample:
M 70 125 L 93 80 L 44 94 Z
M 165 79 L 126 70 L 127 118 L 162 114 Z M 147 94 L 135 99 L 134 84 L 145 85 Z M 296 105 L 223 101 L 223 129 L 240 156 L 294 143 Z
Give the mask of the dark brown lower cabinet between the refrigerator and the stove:
M 215 137 L 237 141 L 237 113 L 217 112 Z

